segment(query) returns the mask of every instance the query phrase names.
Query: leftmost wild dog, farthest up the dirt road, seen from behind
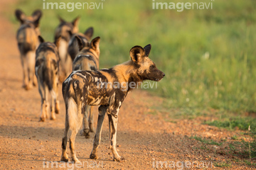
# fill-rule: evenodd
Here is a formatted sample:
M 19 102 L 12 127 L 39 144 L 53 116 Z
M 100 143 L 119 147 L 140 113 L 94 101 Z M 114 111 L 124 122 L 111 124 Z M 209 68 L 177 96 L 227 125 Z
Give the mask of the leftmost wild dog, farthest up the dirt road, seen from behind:
M 40 10 L 32 13 L 32 16 L 26 16 L 21 10 L 15 11 L 16 18 L 21 22 L 18 28 L 16 39 L 18 41 L 18 50 L 21 53 L 21 64 L 23 67 L 23 88 L 31 89 L 32 85 L 36 86 L 35 62 L 36 48 L 39 45 L 38 35 L 39 20 L 42 16 Z

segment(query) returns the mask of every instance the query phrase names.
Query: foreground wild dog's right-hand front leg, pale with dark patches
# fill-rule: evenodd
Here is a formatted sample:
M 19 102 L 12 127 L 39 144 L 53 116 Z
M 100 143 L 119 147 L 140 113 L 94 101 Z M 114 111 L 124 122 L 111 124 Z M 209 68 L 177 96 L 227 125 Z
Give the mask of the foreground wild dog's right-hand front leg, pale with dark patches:
M 109 127 L 110 127 L 110 149 L 114 155 L 114 161 L 122 162 L 124 157 L 120 157 L 117 153 L 117 120 L 118 120 L 118 111 L 116 114 L 109 114 Z

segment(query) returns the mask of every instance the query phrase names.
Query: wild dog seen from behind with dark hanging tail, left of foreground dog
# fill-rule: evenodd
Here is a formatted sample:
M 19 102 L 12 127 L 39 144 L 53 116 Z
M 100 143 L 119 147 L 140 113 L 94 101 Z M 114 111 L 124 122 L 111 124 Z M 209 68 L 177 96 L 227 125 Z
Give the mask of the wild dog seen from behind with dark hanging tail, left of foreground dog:
M 48 118 L 49 102 L 48 94 L 51 96 L 50 119 L 55 120 L 55 113 L 59 113 L 60 106 L 58 101 L 58 77 L 59 61 L 58 46 L 60 38 L 54 43 L 44 42 L 39 36 L 41 44 L 36 50 L 36 77 L 38 79 L 38 90 L 41 95 L 41 115 L 39 121 Z

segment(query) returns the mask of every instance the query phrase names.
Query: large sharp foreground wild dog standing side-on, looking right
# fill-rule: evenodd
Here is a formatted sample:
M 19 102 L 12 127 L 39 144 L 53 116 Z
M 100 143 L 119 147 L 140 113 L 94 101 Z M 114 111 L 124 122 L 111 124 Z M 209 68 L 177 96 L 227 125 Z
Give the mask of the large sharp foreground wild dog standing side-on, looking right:
M 63 98 L 65 101 L 65 130 L 62 142 L 61 160 L 68 162 L 67 141 L 68 130 L 71 129 L 70 152 L 74 162 L 80 162 L 75 155 L 75 136 L 82 124 L 85 106 L 99 106 L 97 130 L 93 142 L 90 159 L 97 159 L 97 148 L 100 145 L 102 123 L 107 113 L 110 127 L 110 148 L 115 161 L 122 161 L 117 153 L 117 118 L 120 107 L 128 92 L 135 85 L 149 79 L 160 81 L 165 75 L 156 68 L 154 62 L 149 59 L 151 45 L 146 47 L 134 46 L 129 52 L 131 60 L 99 71 L 75 71 L 63 82 Z M 122 84 L 122 88 L 112 84 Z M 100 84 L 105 84 L 101 86 Z M 127 88 L 128 86 L 128 88 Z M 116 88 L 117 87 L 117 88 Z

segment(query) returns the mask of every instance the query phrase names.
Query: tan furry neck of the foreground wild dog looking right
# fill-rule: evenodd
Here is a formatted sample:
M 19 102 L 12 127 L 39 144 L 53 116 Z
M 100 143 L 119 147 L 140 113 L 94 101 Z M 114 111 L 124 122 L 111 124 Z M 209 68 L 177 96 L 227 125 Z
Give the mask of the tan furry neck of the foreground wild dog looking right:
M 139 66 L 134 64 L 132 60 L 113 67 L 113 69 L 116 71 L 119 82 L 127 82 L 128 84 L 134 82 L 136 86 L 143 81 L 137 72 L 138 68 Z

